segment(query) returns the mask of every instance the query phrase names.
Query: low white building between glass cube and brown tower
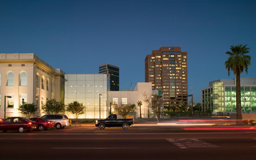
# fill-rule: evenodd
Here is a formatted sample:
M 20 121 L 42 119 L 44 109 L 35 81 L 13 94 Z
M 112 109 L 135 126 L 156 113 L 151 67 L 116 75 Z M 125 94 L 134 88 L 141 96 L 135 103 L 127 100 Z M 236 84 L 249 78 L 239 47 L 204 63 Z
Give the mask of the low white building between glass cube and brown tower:
M 134 90 L 130 91 L 109 91 L 109 102 L 111 104 L 135 104 L 135 118 L 140 117 L 140 107 L 137 105 L 138 101 L 142 101 L 142 118 L 148 117 L 148 104 L 144 101 L 144 96 L 151 96 L 152 94 L 152 83 L 137 83 Z M 111 111 L 113 109 L 111 108 Z M 113 111 L 114 112 L 114 111 Z M 149 108 L 151 115 L 151 107 Z

